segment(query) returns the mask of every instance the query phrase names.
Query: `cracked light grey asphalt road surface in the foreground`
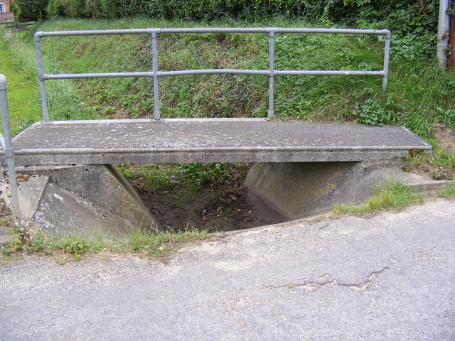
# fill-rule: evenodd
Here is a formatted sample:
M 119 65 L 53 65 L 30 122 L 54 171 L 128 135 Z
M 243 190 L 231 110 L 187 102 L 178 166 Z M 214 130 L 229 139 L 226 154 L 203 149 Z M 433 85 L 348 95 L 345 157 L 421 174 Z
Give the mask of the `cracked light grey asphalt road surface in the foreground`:
M 455 201 L 0 274 L 0 340 L 455 340 Z

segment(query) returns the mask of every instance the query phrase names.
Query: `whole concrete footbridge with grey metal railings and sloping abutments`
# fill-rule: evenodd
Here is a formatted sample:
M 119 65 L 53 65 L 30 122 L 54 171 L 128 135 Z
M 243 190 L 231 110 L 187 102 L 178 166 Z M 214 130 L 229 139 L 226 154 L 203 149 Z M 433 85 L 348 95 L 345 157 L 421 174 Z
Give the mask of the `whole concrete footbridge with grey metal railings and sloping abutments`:
M 269 67 L 266 70 L 159 70 L 158 38 L 160 35 L 173 33 L 265 33 L 269 38 Z M 382 70 L 277 70 L 274 39 L 276 35 L 282 33 L 383 36 L 384 65 Z M 44 73 L 41 55 L 42 38 L 124 34 L 150 36 L 151 71 Z M 16 166 L 22 166 L 28 170 L 38 166 L 41 167 L 40 176 L 45 174 L 45 180 L 41 180 L 41 190 L 35 195 L 36 199 L 31 201 L 38 202 L 33 204 L 36 206 L 33 217 L 41 219 L 46 228 L 50 226 L 51 220 L 60 225 L 68 222 L 68 226 L 73 228 L 79 224 L 87 226 L 107 224 L 109 219 L 108 225 L 115 225 L 116 228 L 119 222 L 123 222 L 122 230 L 126 232 L 131 232 L 137 226 L 159 228 L 159 222 L 154 220 L 153 215 L 148 212 L 131 185 L 112 166 L 120 163 L 257 163 L 257 167 L 255 166 L 247 176 L 248 188 L 254 192 L 251 197 L 254 198 L 256 207 L 262 207 L 267 213 L 274 212 L 273 216 L 278 217 L 278 220 L 296 219 L 320 209 L 327 202 L 352 200 L 356 193 L 361 193 L 363 196 L 356 195 L 355 199 L 362 200 L 365 195 L 368 195 L 372 181 L 378 178 L 374 167 L 370 167 L 372 161 L 386 160 L 387 163 L 387 160 L 405 156 L 410 151 L 430 151 L 432 146 L 411 131 L 397 126 L 318 124 L 277 119 L 274 112 L 274 78 L 282 75 L 382 77 L 382 91 L 385 91 L 390 34 L 388 30 L 276 27 L 37 32 L 35 41 L 43 121 L 36 122 L 14 139 L 9 126 L 6 79 L 0 75 L 0 102 L 4 127 L 4 136 L 0 135 L 2 146 L 0 161 L 1 165 L 8 166 L 13 211 L 16 217 L 21 216 Z M 159 110 L 161 77 L 213 74 L 268 77 L 267 118 L 161 118 Z M 45 82 L 59 79 L 112 77 L 153 78 L 153 119 L 90 121 L 53 121 L 51 119 L 48 113 Z M 363 166 L 359 167 L 360 163 Z M 55 166 L 77 165 L 87 166 L 67 167 L 65 171 L 50 169 Z M 369 171 L 365 171 L 366 168 Z M 43 170 L 49 171 L 43 173 Z M 295 176 L 289 178 L 289 174 Z M 368 184 L 359 187 L 359 179 L 367 178 L 370 179 Z M 27 185 L 22 184 L 21 187 L 25 188 Z M 31 185 L 29 187 L 33 188 Z M 288 188 L 284 191 L 287 193 L 287 198 L 284 200 L 282 199 L 283 188 Z M 304 195 L 306 198 L 302 198 Z M 314 195 L 314 197 L 308 195 Z M 299 200 L 295 200 L 296 197 Z M 106 203 L 107 201 L 109 204 Z M 127 201 L 131 202 L 128 207 L 124 204 Z M 306 205 L 306 202 L 311 202 L 312 206 Z M 33 205 L 27 204 L 26 207 Z M 119 212 L 119 207 L 125 207 L 123 212 Z M 76 216 L 77 220 L 73 222 L 72 219 Z

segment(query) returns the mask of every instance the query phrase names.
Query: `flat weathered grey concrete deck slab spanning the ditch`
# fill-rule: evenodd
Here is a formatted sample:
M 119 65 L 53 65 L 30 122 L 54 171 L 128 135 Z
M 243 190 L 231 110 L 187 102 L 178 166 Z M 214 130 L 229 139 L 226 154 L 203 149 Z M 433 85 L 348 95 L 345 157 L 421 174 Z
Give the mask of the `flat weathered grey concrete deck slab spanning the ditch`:
M 431 146 L 396 126 L 265 119 L 38 122 L 14 139 L 17 166 L 363 161 Z

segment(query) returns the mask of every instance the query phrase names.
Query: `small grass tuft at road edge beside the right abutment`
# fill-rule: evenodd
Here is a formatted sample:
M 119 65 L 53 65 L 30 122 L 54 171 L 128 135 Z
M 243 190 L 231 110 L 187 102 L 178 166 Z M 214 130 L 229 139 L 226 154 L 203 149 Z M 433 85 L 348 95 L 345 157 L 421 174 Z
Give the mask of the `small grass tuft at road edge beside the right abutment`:
M 382 210 L 401 210 L 410 205 L 421 204 L 424 194 L 417 192 L 410 186 L 392 181 L 375 189 L 373 197 L 360 205 L 336 205 L 333 215 L 366 215 Z

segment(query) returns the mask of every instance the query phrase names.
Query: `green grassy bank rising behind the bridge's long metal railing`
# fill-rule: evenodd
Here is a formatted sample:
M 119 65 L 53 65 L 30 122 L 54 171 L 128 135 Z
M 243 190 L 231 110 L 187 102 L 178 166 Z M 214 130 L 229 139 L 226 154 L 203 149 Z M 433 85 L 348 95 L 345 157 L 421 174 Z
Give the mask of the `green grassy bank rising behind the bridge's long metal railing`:
M 321 26 L 333 26 L 321 23 Z M 48 21 L 43 31 L 93 28 L 203 26 L 193 22 L 129 19 Z M 211 26 L 298 26 L 304 21 L 274 18 L 259 22 L 220 21 Z M 32 48 L 31 35 L 19 38 Z M 400 44 L 397 41 L 396 44 Z M 14 43 L 16 45 L 16 42 Z M 394 45 L 392 45 L 394 47 Z M 414 47 L 415 48 L 415 47 Z M 418 46 L 417 46 L 418 48 Z M 276 67 L 306 70 L 380 70 L 383 42 L 376 36 L 279 34 Z M 10 51 L 11 48 L 10 48 Z M 405 58 L 392 48 L 387 93 L 380 77 L 277 77 L 279 117 L 313 121 L 358 121 L 407 126 L 422 137 L 432 124 L 455 127 L 455 75 L 441 72 L 434 60 Z M 109 72 L 151 69 L 148 36 L 48 38 L 43 41 L 45 71 Z M 190 68 L 268 67 L 267 36 L 261 34 L 186 34 L 159 36 L 160 70 Z M 264 117 L 267 115 L 267 77 L 200 75 L 160 79 L 164 117 Z M 52 87 L 71 89 L 68 96 Z M 151 117 L 151 80 L 114 79 L 52 81 L 50 113 L 55 119 L 94 117 Z M 68 90 L 65 90 L 68 91 Z M 36 93 L 33 94 L 36 103 Z M 61 107 L 65 104 L 65 107 Z

